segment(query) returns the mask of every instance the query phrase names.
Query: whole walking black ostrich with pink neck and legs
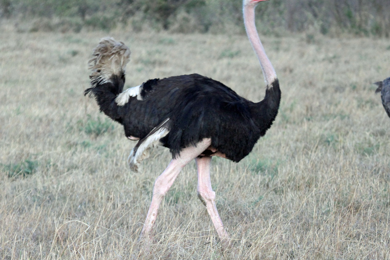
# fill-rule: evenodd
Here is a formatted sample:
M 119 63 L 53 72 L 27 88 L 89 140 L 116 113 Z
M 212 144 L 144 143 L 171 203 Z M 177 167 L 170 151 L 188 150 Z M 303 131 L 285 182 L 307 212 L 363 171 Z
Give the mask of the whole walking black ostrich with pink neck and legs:
M 220 240 L 229 241 L 211 188 L 211 157 L 238 162 L 248 155 L 271 127 L 280 103 L 279 82 L 255 27 L 254 9 L 262 1 L 266 0 L 243 1 L 246 32 L 267 84 L 265 98 L 258 103 L 198 74 L 152 79 L 122 91 L 128 48 L 105 38 L 94 49 L 94 58 L 90 60 L 91 88 L 85 94 L 93 94 L 100 110 L 123 125 L 128 139 L 140 140 L 128 157 L 129 166 L 137 171 L 153 145 L 169 148 L 173 157 L 155 180 L 141 237 L 151 236 L 161 200 L 181 169 L 195 159 L 198 197 L 206 206 Z

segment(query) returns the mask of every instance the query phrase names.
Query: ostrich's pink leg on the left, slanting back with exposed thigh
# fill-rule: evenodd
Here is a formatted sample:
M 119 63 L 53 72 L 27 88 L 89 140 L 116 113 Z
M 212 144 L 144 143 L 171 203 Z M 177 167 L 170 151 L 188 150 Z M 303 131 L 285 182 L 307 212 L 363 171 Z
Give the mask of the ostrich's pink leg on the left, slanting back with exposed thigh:
M 145 219 L 144 227 L 141 231 L 141 237 L 150 237 L 154 222 L 156 221 L 157 211 L 165 194 L 171 188 L 176 177 L 181 169 L 186 166 L 191 160 L 196 158 L 211 144 L 211 139 L 205 138 L 197 144 L 196 147 L 187 147 L 180 152 L 180 156 L 173 159 L 167 169 L 157 177 L 153 187 L 152 202 L 149 207 L 148 214 Z

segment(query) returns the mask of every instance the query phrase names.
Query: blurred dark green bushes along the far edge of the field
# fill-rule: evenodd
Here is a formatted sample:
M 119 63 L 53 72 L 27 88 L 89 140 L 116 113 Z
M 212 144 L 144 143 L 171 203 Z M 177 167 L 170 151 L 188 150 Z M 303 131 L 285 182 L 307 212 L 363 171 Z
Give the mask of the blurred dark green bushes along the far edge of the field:
M 241 0 L 0 0 L 0 17 L 18 21 L 22 31 L 127 25 L 136 31 L 243 32 L 241 6 Z M 263 33 L 390 35 L 388 0 L 272 0 L 257 13 Z

